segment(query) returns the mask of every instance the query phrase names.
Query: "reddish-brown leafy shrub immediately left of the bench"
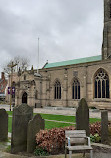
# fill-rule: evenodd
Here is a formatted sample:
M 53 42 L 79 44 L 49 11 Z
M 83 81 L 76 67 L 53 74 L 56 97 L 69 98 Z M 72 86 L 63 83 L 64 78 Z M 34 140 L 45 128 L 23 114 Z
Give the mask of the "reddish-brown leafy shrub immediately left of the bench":
M 50 154 L 64 153 L 65 130 L 74 130 L 74 127 L 53 128 L 51 130 L 41 130 L 36 135 L 38 147 L 42 147 Z

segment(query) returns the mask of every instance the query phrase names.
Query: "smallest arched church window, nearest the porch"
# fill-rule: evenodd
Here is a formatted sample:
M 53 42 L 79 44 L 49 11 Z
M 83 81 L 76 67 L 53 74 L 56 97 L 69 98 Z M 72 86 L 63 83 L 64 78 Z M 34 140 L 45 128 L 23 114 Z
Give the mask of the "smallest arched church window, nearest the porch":
M 59 81 L 56 81 L 54 85 L 54 98 L 61 99 L 61 84 Z

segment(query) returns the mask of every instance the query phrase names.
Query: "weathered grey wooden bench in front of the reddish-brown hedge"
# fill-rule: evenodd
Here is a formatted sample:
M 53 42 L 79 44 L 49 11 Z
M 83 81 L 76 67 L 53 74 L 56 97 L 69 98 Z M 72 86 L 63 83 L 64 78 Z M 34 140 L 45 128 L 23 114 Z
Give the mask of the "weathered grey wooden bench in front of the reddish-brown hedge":
M 67 158 L 67 151 L 69 151 L 69 158 L 71 158 L 72 151 L 83 151 L 83 157 L 86 151 L 90 151 L 90 158 L 93 157 L 90 137 L 86 136 L 85 130 L 65 131 L 65 138 L 65 158 Z

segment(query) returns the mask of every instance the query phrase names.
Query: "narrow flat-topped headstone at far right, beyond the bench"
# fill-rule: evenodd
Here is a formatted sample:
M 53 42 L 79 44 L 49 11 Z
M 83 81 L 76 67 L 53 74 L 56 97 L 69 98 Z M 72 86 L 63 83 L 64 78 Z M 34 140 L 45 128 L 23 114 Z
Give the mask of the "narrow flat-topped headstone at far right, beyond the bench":
M 108 142 L 108 111 L 101 111 L 101 142 Z

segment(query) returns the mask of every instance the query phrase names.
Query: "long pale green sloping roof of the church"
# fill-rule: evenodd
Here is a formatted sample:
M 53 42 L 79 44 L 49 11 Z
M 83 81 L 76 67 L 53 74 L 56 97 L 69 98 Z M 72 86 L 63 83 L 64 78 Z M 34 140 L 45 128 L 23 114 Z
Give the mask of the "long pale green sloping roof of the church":
M 88 62 L 94 62 L 94 61 L 100 61 L 100 60 L 102 60 L 102 56 L 98 55 L 98 56 L 92 56 L 92 57 L 86 57 L 86 58 L 80 58 L 80 59 L 74 59 L 74 60 L 61 61 L 61 62 L 56 62 L 56 63 L 47 63 L 44 66 L 44 68 L 67 66 L 67 65 L 88 63 Z

